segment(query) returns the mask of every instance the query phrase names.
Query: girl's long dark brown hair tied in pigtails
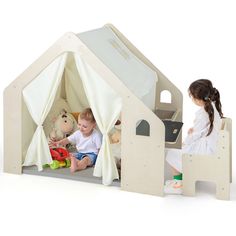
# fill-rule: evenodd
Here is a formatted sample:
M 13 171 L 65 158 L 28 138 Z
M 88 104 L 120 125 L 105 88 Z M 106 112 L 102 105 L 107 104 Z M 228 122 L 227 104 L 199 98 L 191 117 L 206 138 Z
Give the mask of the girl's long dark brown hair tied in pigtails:
M 204 109 L 208 113 L 210 127 L 207 136 L 210 135 L 213 129 L 214 122 L 214 108 L 211 102 L 215 103 L 216 109 L 219 112 L 221 118 L 223 118 L 223 113 L 221 110 L 220 93 L 213 87 L 212 82 L 208 79 L 199 79 L 194 81 L 189 86 L 189 95 L 198 100 L 203 100 L 205 102 Z

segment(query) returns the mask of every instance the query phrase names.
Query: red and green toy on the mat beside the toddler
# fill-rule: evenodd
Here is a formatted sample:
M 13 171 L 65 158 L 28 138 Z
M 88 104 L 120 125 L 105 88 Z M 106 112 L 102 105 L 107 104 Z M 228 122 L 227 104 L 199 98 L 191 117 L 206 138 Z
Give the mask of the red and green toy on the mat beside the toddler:
M 50 153 L 53 162 L 51 164 L 46 164 L 44 167 L 49 166 L 52 170 L 70 167 L 69 152 L 65 148 L 50 148 Z

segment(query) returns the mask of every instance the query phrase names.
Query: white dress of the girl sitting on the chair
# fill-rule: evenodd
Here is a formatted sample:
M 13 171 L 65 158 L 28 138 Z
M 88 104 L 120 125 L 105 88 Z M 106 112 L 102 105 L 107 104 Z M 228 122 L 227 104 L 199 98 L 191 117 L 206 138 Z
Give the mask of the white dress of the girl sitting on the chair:
M 214 123 L 210 135 L 206 136 L 210 126 L 209 116 L 204 107 L 201 107 L 195 113 L 193 132 L 186 137 L 182 149 L 166 149 L 166 161 L 179 172 L 182 172 L 183 153 L 207 155 L 216 152 L 221 118 L 214 103 L 212 106 L 214 108 Z

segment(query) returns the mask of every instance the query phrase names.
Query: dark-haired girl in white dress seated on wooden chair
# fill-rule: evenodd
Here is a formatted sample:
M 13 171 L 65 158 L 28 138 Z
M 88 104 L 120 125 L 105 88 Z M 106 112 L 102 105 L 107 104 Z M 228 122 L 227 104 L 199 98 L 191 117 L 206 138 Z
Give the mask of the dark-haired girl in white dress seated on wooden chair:
M 173 179 L 165 183 L 165 193 L 182 193 L 182 154 L 213 154 L 216 151 L 218 133 L 221 126 L 220 93 L 207 79 L 194 81 L 189 86 L 189 96 L 200 107 L 195 114 L 193 127 L 182 149 L 167 149 L 166 161 L 172 167 Z

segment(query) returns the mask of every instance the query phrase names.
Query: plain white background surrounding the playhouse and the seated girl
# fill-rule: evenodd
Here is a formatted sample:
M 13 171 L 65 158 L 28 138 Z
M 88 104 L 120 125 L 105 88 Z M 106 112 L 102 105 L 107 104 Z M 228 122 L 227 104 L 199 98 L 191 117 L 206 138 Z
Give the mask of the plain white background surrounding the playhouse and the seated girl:
M 184 133 L 196 110 L 187 88 L 199 78 L 213 81 L 225 116 L 236 120 L 235 1 L 3 2 L 1 94 L 65 32 L 112 23 L 183 92 Z M 0 99 L 2 130 L 2 95 Z M 160 198 L 76 181 L 10 175 L 2 173 L 2 135 L 0 144 L 0 235 L 235 235 L 235 184 L 231 201 L 219 201 L 211 185 L 199 186 L 195 198 Z M 233 173 L 235 181 L 234 167 Z

